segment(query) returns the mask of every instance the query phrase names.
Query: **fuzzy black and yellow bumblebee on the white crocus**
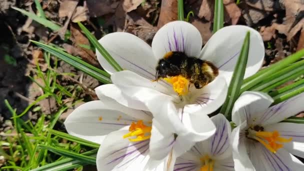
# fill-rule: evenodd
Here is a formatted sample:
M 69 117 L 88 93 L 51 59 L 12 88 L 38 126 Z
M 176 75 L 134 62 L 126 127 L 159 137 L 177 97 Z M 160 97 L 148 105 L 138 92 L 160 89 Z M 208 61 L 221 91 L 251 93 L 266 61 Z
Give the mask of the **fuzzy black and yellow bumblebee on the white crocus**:
M 181 75 L 199 89 L 211 82 L 218 69 L 210 61 L 187 56 L 184 52 L 170 51 L 158 61 L 155 79 Z

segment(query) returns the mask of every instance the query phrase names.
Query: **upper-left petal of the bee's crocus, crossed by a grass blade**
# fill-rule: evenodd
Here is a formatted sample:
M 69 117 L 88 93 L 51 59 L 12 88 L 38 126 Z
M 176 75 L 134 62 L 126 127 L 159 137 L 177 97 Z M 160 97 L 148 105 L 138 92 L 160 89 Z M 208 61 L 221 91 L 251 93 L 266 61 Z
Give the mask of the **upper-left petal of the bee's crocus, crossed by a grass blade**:
M 123 69 L 134 71 L 149 79 L 155 77 L 157 60 L 151 47 L 140 38 L 126 32 L 113 32 L 98 41 Z M 96 55 L 107 72 L 116 72 L 97 49 Z

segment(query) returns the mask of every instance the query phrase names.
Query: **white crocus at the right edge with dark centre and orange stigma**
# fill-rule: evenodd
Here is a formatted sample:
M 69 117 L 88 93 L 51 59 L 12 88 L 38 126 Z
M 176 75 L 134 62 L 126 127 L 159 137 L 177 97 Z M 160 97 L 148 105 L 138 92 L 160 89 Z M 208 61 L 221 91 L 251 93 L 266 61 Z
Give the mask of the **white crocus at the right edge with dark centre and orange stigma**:
M 304 124 L 280 122 L 303 111 L 304 93 L 270 106 L 273 99 L 246 91 L 235 101 L 232 131 L 235 170 L 303 170 Z M 270 107 L 269 107 L 270 106 Z

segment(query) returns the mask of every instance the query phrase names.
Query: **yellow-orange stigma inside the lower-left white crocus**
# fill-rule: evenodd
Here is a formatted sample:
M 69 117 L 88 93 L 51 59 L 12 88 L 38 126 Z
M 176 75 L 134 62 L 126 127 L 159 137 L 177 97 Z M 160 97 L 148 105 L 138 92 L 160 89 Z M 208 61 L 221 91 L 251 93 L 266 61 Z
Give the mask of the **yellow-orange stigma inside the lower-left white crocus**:
M 136 136 L 136 138 L 129 138 L 129 141 L 141 141 L 149 139 L 151 136 L 151 126 L 146 126 L 143 124 L 142 120 L 138 120 L 137 123 L 132 122 L 129 127 L 129 132 L 123 135 L 123 138 Z

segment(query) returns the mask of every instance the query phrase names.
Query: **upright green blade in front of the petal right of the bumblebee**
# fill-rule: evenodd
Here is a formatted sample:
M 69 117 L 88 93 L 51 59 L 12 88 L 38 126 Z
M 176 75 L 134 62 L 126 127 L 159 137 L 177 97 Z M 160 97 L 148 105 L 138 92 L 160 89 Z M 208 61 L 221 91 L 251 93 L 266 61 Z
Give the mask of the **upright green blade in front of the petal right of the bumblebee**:
M 240 86 L 244 78 L 247 59 L 248 59 L 248 52 L 249 52 L 249 42 L 250 42 L 250 32 L 248 31 L 244 38 L 239 57 L 237 59 L 237 63 L 233 71 L 233 75 L 228 87 L 228 92 L 225 102 L 223 103 L 219 111 L 220 113 L 224 114 L 228 120 L 231 120 L 231 110 L 234 101 L 238 97 Z

